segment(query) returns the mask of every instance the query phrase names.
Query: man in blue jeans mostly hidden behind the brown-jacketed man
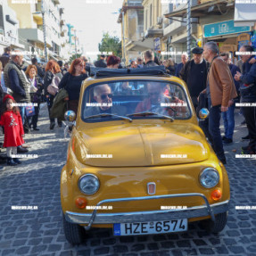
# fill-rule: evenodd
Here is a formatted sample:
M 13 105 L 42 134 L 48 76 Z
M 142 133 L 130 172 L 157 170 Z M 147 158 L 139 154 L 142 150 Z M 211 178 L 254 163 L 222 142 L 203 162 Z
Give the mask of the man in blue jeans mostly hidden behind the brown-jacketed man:
M 240 69 L 235 66 L 234 64 L 229 63 L 229 54 L 228 53 L 222 53 L 220 54 L 221 59 L 227 63 L 229 70 L 231 71 L 232 77 L 235 77 L 236 72 L 240 72 Z M 235 81 L 235 89 L 236 94 L 239 94 L 239 87 L 240 84 L 238 81 Z M 229 107 L 226 112 L 222 112 L 222 119 L 224 122 L 224 128 L 225 128 L 225 136 L 222 137 L 223 145 L 230 145 L 233 143 L 233 134 L 234 134 L 234 128 L 235 128 L 235 103 L 238 103 L 239 99 L 238 96 L 235 99 L 232 99 L 229 103 Z

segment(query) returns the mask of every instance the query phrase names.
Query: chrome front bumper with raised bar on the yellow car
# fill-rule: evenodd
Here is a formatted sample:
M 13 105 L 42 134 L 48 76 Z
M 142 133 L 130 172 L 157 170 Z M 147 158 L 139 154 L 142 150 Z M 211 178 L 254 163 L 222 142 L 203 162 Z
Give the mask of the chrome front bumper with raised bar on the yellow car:
M 191 219 L 205 216 L 211 216 L 211 219 L 215 221 L 215 214 L 228 211 L 228 200 L 225 202 L 217 202 L 210 205 L 206 196 L 204 194 L 198 193 L 163 194 L 144 197 L 106 199 L 101 202 L 98 202 L 96 206 L 100 206 L 101 204 L 108 202 L 143 201 L 187 196 L 200 196 L 203 198 L 205 204 L 186 209 L 174 209 L 164 211 L 132 211 L 119 213 L 97 213 L 96 209 L 92 213 L 78 213 L 66 211 L 65 219 L 71 223 L 87 224 L 86 229 L 89 230 L 92 224 L 131 223 L 169 219 Z

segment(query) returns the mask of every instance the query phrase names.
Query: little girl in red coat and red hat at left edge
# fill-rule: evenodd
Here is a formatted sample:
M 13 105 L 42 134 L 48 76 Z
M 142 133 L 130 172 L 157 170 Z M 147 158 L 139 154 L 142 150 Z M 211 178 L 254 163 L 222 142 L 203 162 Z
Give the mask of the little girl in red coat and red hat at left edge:
M 21 161 L 18 158 L 12 158 L 17 154 L 17 146 L 24 144 L 24 130 L 21 120 L 21 114 L 11 95 L 5 95 L 3 99 L 4 114 L 1 116 L 0 126 L 4 126 L 4 147 L 6 147 L 7 165 L 17 165 Z

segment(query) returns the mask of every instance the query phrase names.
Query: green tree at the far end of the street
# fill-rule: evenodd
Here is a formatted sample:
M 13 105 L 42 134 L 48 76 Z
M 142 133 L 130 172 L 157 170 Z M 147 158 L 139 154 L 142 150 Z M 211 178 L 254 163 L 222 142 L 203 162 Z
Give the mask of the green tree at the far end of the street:
M 102 42 L 99 43 L 99 52 L 111 52 L 121 58 L 121 41 L 119 37 L 111 37 L 109 33 L 103 33 Z

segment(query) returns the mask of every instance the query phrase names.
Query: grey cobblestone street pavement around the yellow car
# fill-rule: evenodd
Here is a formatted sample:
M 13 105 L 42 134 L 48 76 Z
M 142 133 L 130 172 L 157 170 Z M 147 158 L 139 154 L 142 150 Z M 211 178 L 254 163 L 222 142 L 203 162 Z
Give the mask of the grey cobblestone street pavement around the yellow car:
M 40 131 L 25 137 L 31 145 L 29 154 L 38 158 L 22 159 L 21 165 L 0 170 L 0 255 L 256 256 L 256 210 L 235 210 L 235 206 L 256 205 L 256 160 L 235 159 L 232 152 L 246 145 L 240 141 L 247 135 L 242 120 L 236 110 L 234 144 L 225 146 L 230 210 L 227 227 L 219 235 L 209 235 L 197 224 L 189 225 L 185 233 L 121 237 L 112 235 L 111 229 L 94 228 L 84 244 L 71 246 L 63 234 L 60 200 L 68 140 L 63 138 L 63 128 L 49 129 L 44 106 Z M 36 206 L 37 210 L 12 210 L 12 206 Z

